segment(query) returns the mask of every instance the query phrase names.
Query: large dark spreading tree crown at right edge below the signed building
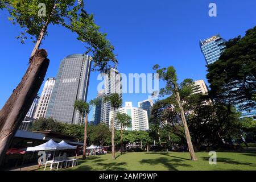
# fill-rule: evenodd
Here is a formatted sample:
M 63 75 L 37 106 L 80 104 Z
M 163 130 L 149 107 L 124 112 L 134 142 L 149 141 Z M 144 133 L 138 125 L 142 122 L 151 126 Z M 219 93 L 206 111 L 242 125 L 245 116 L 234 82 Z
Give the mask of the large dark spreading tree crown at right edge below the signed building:
M 210 94 L 218 102 L 240 109 L 256 108 L 256 26 L 241 38 L 226 42 L 218 61 L 208 65 Z

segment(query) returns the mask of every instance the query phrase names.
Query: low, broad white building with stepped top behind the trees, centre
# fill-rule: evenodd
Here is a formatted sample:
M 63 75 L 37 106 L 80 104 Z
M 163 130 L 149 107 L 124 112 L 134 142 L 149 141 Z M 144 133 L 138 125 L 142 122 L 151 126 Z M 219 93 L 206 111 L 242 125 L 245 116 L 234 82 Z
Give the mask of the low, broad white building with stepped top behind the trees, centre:
M 131 127 L 126 127 L 128 131 L 147 131 L 148 118 L 147 111 L 138 107 L 133 107 L 132 102 L 125 102 L 125 107 L 117 109 L 116 113 L 125 113 L 131 117 Z M 114 111 L 110 111 L 109 126 L 111 127 L 111 121 L 113 119 Z M 115 120 L 115 129 L 120 130 L 121 126 L 118 125 L 117 119 Z

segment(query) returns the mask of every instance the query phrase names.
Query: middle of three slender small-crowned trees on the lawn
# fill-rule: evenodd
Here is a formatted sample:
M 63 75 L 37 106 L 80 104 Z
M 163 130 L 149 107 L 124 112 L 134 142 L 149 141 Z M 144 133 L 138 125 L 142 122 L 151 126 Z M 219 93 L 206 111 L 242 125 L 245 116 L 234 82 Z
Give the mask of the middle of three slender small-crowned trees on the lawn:
M 114 137 L 115 137 L 115 111 L 117 110 L 117 108 L 119 108 L 122 105 L 122 100 L 119 97 L 118 93 L 112 93 L 109 96 L 105 96 L 104 97 L 104 102 L 110 102 L 112 108 L 113 108 L 113 118 L 112 118 L 112 122 L 111 122 L 111 127 L 112 127 L 112 134 L 111 134 L 111 143 L 112 143 L 112 159 L 115 159 L 115 141 L 114 141 Z

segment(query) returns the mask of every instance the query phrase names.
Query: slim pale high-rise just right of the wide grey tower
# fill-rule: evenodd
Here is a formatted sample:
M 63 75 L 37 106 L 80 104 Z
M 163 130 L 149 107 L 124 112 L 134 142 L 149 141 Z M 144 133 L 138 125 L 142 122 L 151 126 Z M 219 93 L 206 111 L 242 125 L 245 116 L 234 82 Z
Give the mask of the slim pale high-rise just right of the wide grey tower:
M 110 102 L 104 102 L 103 97 L 118 93 L 122 99 L 122 77 L 117 69 L 111 68 L 108 74 L 104 74 L 104 89 L 98 92 L 97 98 L 100 104 L 94 110 L 94 123 L 104 122 L 109 125 L 109 113 L 113 108 Z

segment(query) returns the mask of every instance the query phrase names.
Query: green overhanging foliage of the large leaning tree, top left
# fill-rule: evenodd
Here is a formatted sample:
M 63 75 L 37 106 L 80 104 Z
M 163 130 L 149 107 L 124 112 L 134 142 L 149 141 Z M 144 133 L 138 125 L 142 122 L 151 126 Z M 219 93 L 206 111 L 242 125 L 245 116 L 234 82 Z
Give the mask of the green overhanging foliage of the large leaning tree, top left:
M 5 2 L 5 4 L 3 3 Z M 38 16 L 39 3 L 46 5 L 46 16 Z M 22 43 L 26 39 L 39 40 L 40 33 L 48 34 L 49 24 L 58 24 L 77 34 L 77 40 L 85 43 L 86 54 L 91 53 L 94 71 L 106 72 L 118 64 L 114 47 L 94 23 L 93 15 L 84 10 L 84 2 L 77 0 L 8 0 L 0 1 L 0 9 L 7 5 L 10 20 L 19 24 L 22 32 L 16 38 Z M 44 36 L 43 36 L 44 39 Z

